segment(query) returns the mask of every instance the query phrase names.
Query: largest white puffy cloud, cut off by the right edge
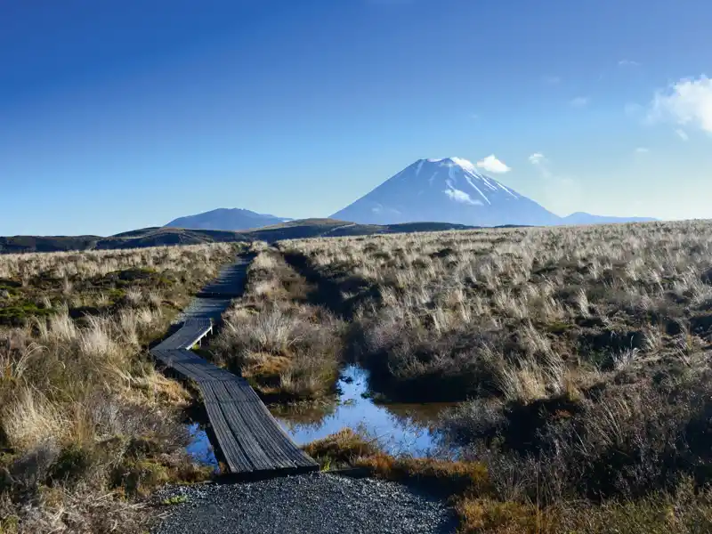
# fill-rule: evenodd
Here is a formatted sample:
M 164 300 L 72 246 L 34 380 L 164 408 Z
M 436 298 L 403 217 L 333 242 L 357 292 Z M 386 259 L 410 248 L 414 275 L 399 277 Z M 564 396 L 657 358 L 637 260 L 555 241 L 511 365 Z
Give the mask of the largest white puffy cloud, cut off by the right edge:
M 712 134 L 712 79 L 683 78 L 655 93 L 649 119 L 693 125 Z

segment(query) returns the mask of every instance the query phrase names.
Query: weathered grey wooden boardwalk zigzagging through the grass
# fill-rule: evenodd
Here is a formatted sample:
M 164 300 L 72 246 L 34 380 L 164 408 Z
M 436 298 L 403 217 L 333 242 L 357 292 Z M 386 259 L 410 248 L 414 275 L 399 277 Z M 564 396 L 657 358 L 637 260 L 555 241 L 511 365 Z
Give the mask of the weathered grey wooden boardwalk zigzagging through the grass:
M 167 368 L 192 380 L 206 406 L 218 457 L 230 473 L 244 477 L 315 471 L 317 463 L 287 436 L 244 378 L 218 368 L 190 348 L 240 295 L 249 261 L 225 268 L 182 313 L 181 328 L 150 350 Z

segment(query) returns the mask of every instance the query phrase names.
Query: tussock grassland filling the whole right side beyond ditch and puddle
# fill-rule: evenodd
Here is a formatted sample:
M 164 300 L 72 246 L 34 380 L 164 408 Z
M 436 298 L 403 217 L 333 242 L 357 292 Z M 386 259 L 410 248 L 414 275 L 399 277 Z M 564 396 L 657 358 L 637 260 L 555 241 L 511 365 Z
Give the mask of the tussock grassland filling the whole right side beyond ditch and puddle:
M 455 491 L 463 530 L 712 529 L 712 223 L 279 249 L 351 319 L 347 354 L 376 392 L 458 401 L 439 426 L 465 463 L 428 469 L 476 473 Z M 423 467 L 357 456 L 384 476 Z

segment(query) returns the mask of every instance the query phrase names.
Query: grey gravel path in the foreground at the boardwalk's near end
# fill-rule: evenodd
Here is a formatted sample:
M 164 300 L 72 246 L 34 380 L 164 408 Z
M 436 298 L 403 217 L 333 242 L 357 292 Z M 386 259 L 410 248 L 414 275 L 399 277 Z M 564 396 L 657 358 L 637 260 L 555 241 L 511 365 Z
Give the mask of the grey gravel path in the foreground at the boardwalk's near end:
M 456 522 L 441 501 L 394 482 L 323 473 L 239 484 L 177 487 L 155 534 L 445 534 Z

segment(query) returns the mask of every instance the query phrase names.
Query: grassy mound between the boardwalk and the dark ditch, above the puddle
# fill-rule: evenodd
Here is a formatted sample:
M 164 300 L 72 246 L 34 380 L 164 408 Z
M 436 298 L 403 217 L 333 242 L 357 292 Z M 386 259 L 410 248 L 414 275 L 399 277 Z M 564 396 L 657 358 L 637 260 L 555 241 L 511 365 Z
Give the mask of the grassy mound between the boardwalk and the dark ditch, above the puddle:
M 245 295 L 223 314 L 215 357 L 269 401 L 313 401 L 334 391 L 343 323 L 308 303 L 303 277 L 273 250 L 255 256 Z

